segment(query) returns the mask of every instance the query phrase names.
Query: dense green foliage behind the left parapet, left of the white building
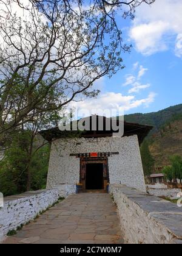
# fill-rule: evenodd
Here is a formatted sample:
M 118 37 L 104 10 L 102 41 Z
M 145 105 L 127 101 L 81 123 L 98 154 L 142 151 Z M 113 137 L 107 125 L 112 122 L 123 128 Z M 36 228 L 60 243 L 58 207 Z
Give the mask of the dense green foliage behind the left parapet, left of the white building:
M 49 144 L 42 146 L 30 159 L 31 134 L 30 130 L 16 132 L 0 162 L 0 191 L 5 196 L 45 188 Z

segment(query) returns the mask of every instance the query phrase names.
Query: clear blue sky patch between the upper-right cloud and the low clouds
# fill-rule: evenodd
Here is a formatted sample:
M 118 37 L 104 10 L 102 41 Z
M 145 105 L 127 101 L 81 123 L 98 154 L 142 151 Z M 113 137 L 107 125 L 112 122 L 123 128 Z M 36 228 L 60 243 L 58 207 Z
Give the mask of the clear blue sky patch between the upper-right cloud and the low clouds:
M 135 77 L 138 75 L 139 69 L 133 69 L 133 65 L 138 63 L 147 69 L 140 82 L 142 85 L 150 84 L 150 87 L 135 93 L 136 99 L 146 98 L 151 92 L 155 93 L 153 102 L 148 106 L 141 105 L 128 110 L 127 113 L 153 112 L 182 103 L 182 59 L 176 57 L 172 49 L 144 56 L 133 48 L 129 55 L 124 55 L 123 60 L 126 68 L 111 79 L 105 78 L 103 91 L 112 90 L 115 93 L 128 95 L 132 86 L 123 86 L 123 84 L 128 75 Z

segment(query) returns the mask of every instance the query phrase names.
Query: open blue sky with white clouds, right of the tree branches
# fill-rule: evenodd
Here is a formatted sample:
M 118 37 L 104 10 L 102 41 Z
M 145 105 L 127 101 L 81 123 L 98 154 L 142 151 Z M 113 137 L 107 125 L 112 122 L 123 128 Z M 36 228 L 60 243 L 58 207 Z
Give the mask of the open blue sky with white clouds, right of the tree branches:
M 118 27 L 132 44 L 124 53 L 126 66 L 111 79 L 96 82 L 96 99 L 79 107 L 124 108 L 124 113 L 156 112 L 182 103 L 182 1 L 156 0 L 136 9 L 135 20 L 118 15 Z M 94 113 L 93 113 L 94 114 Z

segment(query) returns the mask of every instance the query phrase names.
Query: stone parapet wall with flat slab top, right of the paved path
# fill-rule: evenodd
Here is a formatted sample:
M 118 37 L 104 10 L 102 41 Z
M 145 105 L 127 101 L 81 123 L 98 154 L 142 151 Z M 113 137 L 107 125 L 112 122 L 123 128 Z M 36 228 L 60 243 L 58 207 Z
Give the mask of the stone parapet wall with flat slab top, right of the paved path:
M 126 186 L 110 185 L 110 193 L 126 243 L 182 243 L 182 208 Z

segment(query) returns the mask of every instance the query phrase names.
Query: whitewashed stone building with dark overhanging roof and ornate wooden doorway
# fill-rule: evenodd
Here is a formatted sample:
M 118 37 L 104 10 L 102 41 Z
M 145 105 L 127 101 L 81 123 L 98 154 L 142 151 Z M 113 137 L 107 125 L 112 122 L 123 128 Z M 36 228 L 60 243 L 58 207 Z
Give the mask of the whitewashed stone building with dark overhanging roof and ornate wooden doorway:
M 113 137 L 112 129 L 90 130 L 77 137 L 58 128 L 41 131 L 52 143 L 47 188 L 59 188 L 60 196 L 75 193 L 78 183 L 82 191 L 106 191 L 108 183 L 146 191 L 140 143 L 151 129 L 124 122 L 123 137 Z

